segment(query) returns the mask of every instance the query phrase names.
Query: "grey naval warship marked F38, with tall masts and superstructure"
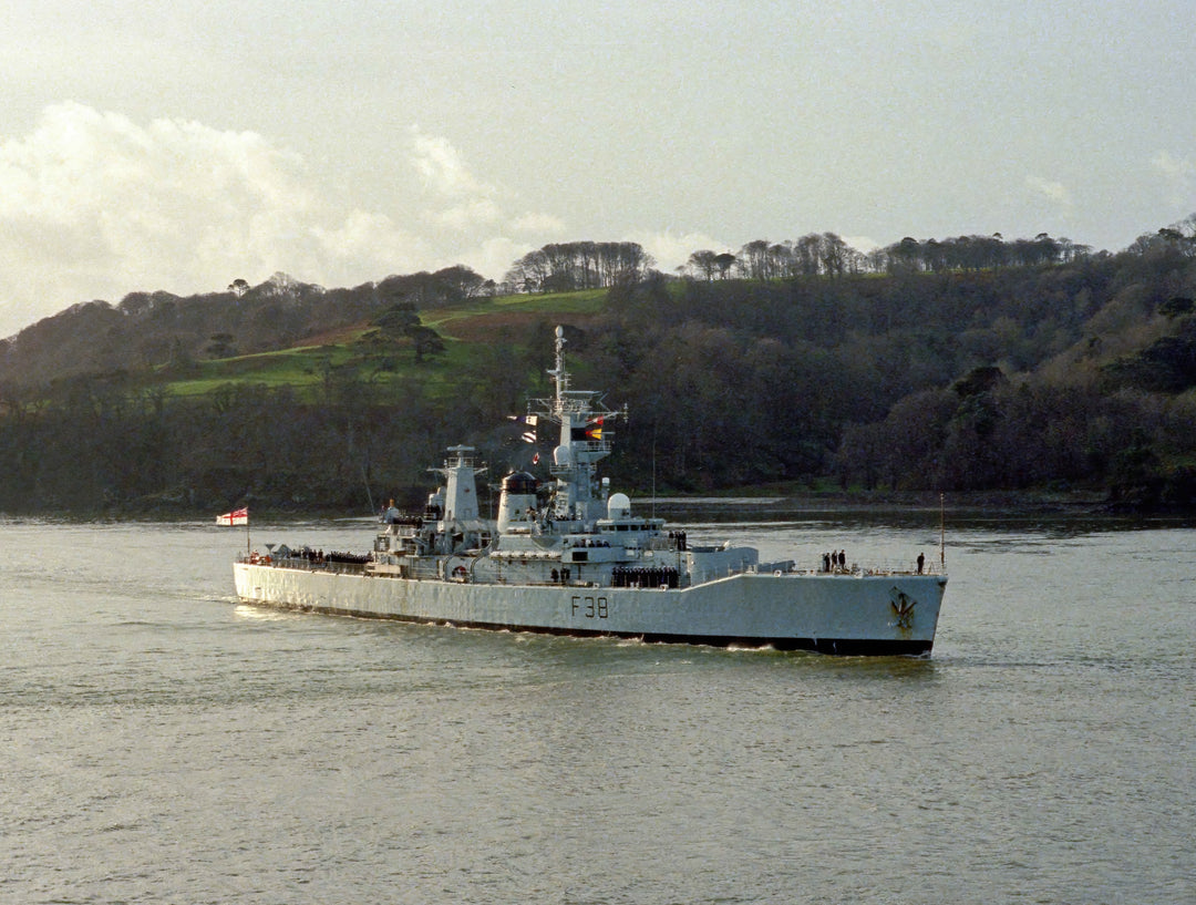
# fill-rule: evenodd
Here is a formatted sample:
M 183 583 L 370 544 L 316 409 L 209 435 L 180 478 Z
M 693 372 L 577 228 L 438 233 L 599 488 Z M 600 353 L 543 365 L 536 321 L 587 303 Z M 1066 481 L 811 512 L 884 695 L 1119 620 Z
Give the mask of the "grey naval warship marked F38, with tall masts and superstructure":
M 555 425 L 541 482 L 501 480 L 498 517 L 480 511 L 486 468 L 472 447 L 448 449 L 425 511 L 383 516 L 373 548 L 313 559 L 285 546 L 233 564 L 243 601 L 311 611 L 515 632 L 643 642 L 928 655 L 945 571 L 862 566 L 798 569 L 753 547 L 690 543 L 684 530 L 634 511 L 598 463 L 623 412 L 600 391 L 570 387 L 556 328 L 555 391 L 526 421 Z

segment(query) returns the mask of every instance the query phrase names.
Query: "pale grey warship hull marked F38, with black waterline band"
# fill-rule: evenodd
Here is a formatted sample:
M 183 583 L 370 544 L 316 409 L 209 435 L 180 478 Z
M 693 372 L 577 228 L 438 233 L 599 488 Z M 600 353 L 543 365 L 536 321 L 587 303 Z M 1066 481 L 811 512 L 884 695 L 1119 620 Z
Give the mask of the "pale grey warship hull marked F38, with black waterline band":
M 645 642 L 926 655 L 940 575 L 740 572 L 688 588 L 566 587 L 402 578 L 366 569 L 239 561 L 237 595 L 304 612 Z

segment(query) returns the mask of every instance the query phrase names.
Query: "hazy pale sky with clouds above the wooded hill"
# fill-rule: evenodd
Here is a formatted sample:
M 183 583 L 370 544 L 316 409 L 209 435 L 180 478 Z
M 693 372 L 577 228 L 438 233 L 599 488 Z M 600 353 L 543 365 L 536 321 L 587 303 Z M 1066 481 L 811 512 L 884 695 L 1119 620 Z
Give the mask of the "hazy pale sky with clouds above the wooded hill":
M 0 336 L 80 300 L 1196 211 L 1192 0 L 0 10 Z

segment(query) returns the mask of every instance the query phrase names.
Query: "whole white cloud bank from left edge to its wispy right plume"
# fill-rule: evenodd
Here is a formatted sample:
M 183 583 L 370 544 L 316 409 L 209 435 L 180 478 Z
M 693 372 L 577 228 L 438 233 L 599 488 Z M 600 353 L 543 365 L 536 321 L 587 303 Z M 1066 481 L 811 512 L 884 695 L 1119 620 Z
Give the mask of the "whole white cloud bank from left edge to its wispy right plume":
M 329 286 L 457 262 L 501 277 L 514 257 L 500 249 L 517 245 L 495 236 L 559 225 L 507 223 L 504 192 L 444 138 L 413 129 L 409 151 L 426 192 L 354 209 L 257 133 L 49 107 L 0 144 L 0 336 L 85 299 L 209 292 L 276 271 Z

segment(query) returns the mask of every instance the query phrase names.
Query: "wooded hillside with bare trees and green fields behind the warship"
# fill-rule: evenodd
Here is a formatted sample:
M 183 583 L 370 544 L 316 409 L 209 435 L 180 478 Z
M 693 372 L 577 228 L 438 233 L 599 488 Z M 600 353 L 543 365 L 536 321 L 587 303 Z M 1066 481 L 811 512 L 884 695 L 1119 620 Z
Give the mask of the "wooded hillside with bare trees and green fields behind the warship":
M 501 285 L 463 267 L 347 290 L 276 275 L 75 305 L 0 344 L 0 510 L 366 511 L 421 492 L 456 443 L 494 474 L 530 467 L 507 415 L 547 390 L 557 322 L 575 385 L 628 407 L 622 486 L 1196 508 L 1196 218 L 1117 254 L 1038 236 L 861 255 L 822 233 L 652 265 L 570 243 Z M 293 385 L 244 370 L 292 346 L 325 365 Z M 177 395 L 201 366 L 227 378 Z

